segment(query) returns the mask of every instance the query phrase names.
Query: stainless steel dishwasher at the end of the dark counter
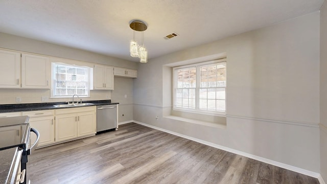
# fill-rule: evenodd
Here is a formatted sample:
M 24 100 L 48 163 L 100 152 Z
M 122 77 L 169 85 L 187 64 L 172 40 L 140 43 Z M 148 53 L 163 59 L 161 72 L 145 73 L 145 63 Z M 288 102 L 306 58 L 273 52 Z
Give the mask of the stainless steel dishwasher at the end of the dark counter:
M 117 128 L 117 110 L 116 104 L 97 106 L 97 134 Z

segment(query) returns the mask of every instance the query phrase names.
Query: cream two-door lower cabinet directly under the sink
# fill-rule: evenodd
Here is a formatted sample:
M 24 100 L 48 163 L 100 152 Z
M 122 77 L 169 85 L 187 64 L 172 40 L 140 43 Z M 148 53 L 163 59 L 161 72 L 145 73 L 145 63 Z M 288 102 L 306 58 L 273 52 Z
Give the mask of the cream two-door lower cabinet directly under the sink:
M 96 133 L 96 106 L 56 110 L 56 142 Z

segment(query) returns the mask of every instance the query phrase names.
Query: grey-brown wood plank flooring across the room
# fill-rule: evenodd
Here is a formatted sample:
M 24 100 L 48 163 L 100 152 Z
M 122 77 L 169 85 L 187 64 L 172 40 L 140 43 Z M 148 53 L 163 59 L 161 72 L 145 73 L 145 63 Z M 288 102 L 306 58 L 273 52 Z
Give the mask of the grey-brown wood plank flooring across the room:
M 31 183 L 319 183 L 318 179 L 146 126 L 37 149 Z

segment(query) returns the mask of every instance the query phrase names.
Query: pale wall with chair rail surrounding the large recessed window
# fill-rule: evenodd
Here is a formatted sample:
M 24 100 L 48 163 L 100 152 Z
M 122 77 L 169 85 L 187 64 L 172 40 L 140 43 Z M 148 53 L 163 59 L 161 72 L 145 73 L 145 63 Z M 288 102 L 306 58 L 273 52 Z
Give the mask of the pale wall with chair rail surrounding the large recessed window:
M 220 53 L 226 127 L 165 118 L 167 65 Z M 139 64 L 134 103 L 136 121 L 319 173 L 319 12 Z

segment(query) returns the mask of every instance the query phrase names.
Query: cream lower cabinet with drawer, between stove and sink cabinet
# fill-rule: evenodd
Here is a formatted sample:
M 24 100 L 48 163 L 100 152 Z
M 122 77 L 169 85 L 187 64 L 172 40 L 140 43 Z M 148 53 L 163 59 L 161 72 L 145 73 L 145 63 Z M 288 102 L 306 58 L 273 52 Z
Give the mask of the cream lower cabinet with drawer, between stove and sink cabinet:
M 38 147 L 55 143 L 54 110 L 37 110 L 22 112 L 22 116 L 29 116 L 32 128 L 40 133 Z M 31 144 L 36 140 L 36 135 L 31 133 Z

